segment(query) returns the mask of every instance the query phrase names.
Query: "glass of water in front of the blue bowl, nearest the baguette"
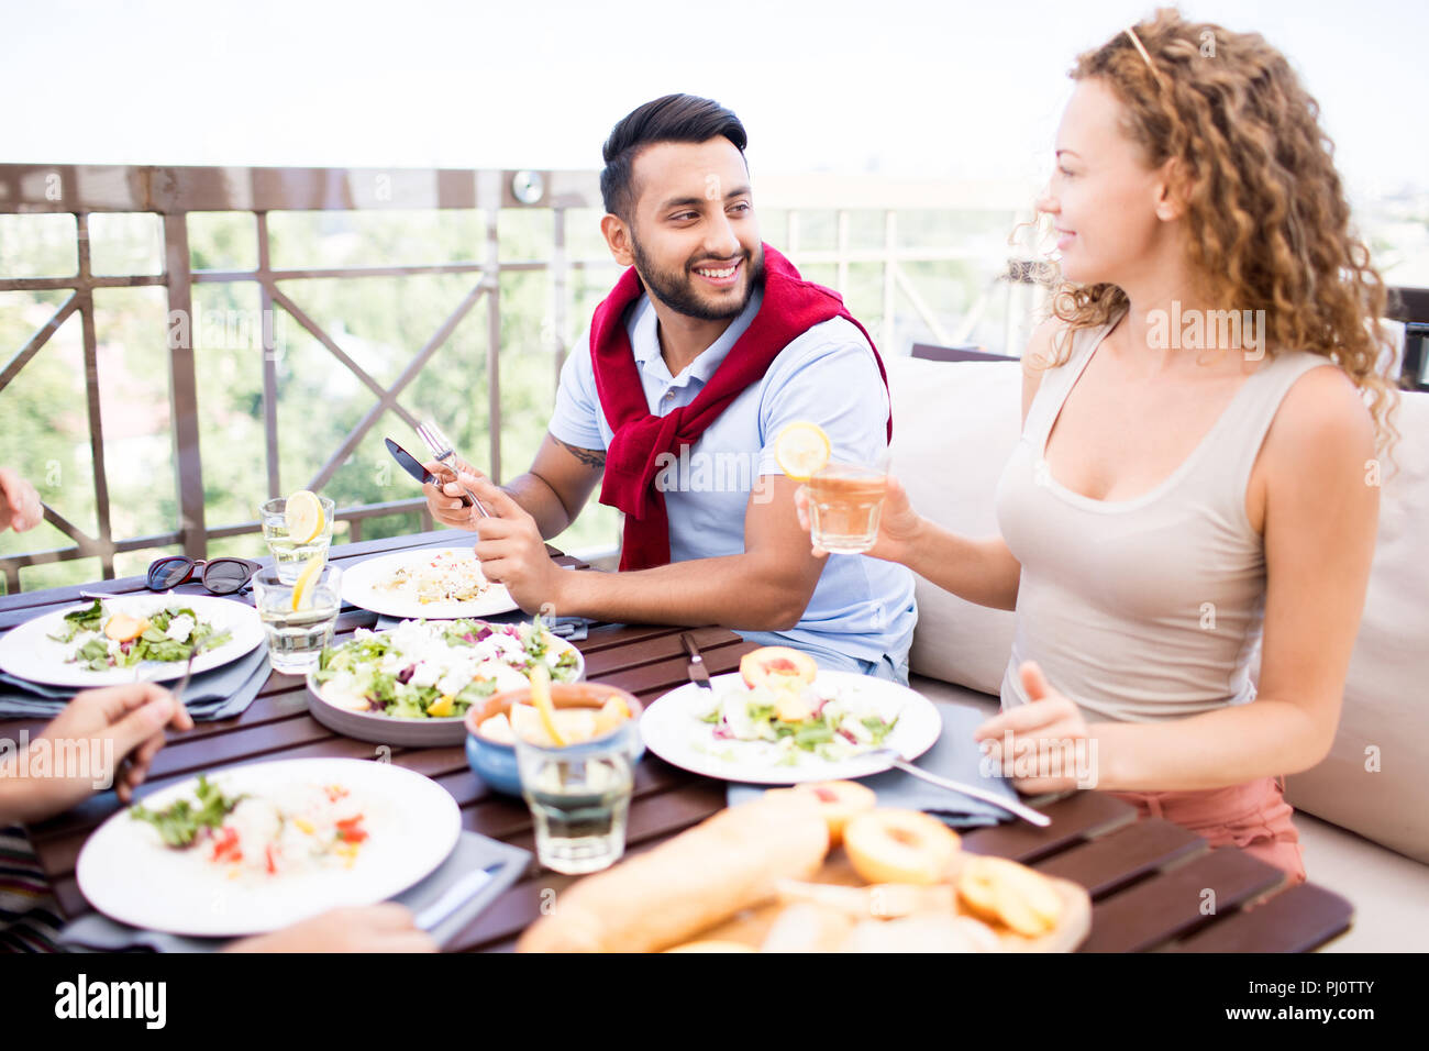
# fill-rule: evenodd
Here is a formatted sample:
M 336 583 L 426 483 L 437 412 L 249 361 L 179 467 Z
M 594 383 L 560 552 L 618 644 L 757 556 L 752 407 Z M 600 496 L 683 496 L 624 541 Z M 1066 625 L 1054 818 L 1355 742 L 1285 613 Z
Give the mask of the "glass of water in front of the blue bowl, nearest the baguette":
M 620 859 L 634 785 L 624 734 L 564 748 L 533 745 L 517 735 L 516 766 L 542 865 L 580 874 Z

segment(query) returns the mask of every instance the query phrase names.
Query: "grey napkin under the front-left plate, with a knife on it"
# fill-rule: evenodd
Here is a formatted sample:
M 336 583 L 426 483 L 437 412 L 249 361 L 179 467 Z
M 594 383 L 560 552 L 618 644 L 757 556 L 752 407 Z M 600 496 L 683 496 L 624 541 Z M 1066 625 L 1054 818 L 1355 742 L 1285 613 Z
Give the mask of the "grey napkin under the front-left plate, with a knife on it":
M 472 869 L 499 865 L 492 874 L 492 879 L 477 891 L 474 898 L 432 931 L 437 945 L 444 947 L 466 929 L 482 909 L 496 901 L 502 891 L 522 878 L 530 859 L 530 851 L 523 851 L 520 847 L 510 847 L 499 839 L 463 831 L 447 859 L 432 875 L 403 891 L 393 901 L 420 914 L 423 908 L 436 902 L 452 884 Z M 163 931 L 146 931 L 120 924 L 99 912 L 89 912 L 73 919 L 60 931 L 60 942 L 77 952 L 121 952 L 144 948 L 159 952 L 214 952 L 227 945 L 229 941 L 227 938 L 186 938 Z

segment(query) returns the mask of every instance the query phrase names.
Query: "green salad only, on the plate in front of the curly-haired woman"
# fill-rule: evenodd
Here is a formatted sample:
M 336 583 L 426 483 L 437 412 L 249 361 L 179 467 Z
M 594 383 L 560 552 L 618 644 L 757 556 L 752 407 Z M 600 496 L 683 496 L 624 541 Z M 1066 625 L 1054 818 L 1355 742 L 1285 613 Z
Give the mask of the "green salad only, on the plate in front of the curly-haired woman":
M 694 746 L 729 761 L 797 765 L 806 756 L 839 762 L 879 748 L 897 725 L 899 702 L 857 685 L 790 688 L 730 684 L 694 712 Z

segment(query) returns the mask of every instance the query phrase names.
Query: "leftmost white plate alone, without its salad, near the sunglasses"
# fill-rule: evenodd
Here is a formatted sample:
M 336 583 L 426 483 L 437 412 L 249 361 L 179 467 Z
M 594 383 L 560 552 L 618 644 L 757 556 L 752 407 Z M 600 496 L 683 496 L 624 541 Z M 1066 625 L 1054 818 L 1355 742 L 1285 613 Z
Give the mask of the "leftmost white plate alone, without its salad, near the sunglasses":
M 0 669 L 17 679 L 47 682 L 54 686 L 113 686 L 136 679 L 167 682 L 183 678 L 184 669 L 189 666 L 187 661 L 146 661 L 134 668 L 109 668 L 103 672 L 90 671 L 77 663 L 66 663 L 64 658 L 74 649 L 74 643 L 56 642 L 49 636 L 59 633 L 64 626 L 66 613 L 87 609 L 91 605 L 94 605 L 93 601 L 86 601 L 56 609 L 33 621 L 26 621 L 9 632 L 0 639 Z M 171 592 L 120 595 L 114 599 L 104 599 L 106 612 L 121 612 L 131 616 L 144 616 L 164 606 L 189 606 L 199 615 L 200 621 L 207 621 L 219 631 L 233 632 L 233 638 L 221 646 L 204 651 L 194 658 L 194 675 L 221 668 L 263 645 L 263 622 L 259 619 L 259 611 L 246 602 L 220 599 L 213 595 L 176 595 Z

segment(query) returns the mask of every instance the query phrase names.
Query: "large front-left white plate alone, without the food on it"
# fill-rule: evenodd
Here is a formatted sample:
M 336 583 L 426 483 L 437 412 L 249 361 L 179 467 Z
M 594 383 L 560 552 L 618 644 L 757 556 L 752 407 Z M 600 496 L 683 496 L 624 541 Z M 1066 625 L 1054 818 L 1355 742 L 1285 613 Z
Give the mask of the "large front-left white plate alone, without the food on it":
M 359 799 L 370 838 L 352 868 L 230 879 L 201 848 L 164 847 L 153 825 L 123 809 L 80 851 L 80 891 L 104 915 L 191 937 L 276 931 L 340 905 L 374 905 L 427 877 L 456 847 L 462 815 L 450 792 L 403 766 L 369 759 L 282 759 L 233 766 L 209 779 L 233 792 L 340 784 Z M 193 798 L 197 778 L 143 799 L 150 809 Z

